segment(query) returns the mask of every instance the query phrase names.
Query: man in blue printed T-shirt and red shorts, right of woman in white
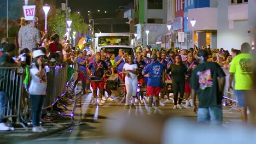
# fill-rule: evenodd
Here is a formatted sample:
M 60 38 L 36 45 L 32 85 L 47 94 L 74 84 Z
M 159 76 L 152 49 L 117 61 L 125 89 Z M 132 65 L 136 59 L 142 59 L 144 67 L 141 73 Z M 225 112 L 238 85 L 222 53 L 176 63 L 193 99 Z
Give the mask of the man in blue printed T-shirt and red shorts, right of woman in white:
M 155 111 L 158 113 L 159 106 L 159 93 L 162 89 L 162 83 L 164 83 L 164 65 L 157 61 L 157 56 L 152 55 L 152 63 L 148 64 L 143 71 L 143 75 L 149 74 L 147 82 L 147 95 L 149 95 L 149 112 L 148 115 L 152 115 L 153 97 L 155 97 Z

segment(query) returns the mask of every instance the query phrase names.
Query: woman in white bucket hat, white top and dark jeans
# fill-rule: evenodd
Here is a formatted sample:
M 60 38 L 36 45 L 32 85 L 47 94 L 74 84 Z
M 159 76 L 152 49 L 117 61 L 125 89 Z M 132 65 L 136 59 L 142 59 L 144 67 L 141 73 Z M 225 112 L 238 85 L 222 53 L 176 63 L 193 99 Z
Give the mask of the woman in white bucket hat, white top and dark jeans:
M 42 113 L 42 107 L 44 104 L 46 94 L 46 74 L 43 65 L 43 56 L 45 53 L 42 50 L 34 50 L 33 52 L 33 63 L 31 64 L 31 82 L 30 82 L 30 100 L 32 105 L 32 124 L 33 132 L 47 131 L 40 126 L 40 118 Z

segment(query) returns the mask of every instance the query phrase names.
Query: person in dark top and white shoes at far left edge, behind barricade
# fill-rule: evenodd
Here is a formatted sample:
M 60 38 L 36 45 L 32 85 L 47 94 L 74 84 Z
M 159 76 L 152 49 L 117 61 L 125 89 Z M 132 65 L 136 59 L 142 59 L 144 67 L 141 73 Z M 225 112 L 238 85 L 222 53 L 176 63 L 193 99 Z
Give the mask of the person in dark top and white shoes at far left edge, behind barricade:
M 4 53 L 0 57 L 0 67 L 20 67 L 21 62 L 15 62 L 13 60 L 14 56 L 14 50 L 15 50 L 15 45 L 14 44 L 5 44 L 3 47 Z M 4 116 L 5 112 L 5 106 L 7 105 L 6 103 L 6 97 L 7 97 L 7 92 L 5 92 L 2 89 L 3 83 L 5 80 L 0 77 L 0 117 Z M 6 122 L 6 119 L 0 118 L 0 130 L 14 130 L 13 127 L 8 127 L 4 123 Z

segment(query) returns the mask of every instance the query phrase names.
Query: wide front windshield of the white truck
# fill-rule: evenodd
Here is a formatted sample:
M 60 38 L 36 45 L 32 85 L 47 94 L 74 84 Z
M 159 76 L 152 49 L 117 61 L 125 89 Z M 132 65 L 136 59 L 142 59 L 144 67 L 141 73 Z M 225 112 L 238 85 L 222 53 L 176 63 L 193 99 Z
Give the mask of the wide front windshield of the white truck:
M 98 37 L 98 46 L 130 45 L 129 36 L 102 36 Z

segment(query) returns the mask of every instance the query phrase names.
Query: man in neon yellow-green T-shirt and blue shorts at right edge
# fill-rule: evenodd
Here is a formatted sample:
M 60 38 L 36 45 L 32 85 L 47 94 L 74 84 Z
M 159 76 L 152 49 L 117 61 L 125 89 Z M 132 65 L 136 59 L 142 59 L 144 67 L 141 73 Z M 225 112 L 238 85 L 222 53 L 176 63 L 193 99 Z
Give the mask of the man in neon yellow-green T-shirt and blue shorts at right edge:
M 235 56 L 230 65 L 230 77 L 228 91 L 232 88 L 232 81 L 235 75 L 235 92 L 238 101 L 238 107 L 241 108 L 242 122 L 247 123 L 247 106 L 250 110 L 250 119 L 254 122 L 255 119 L 255 107 L 253 103 L 249 103 L 249 97 L 247 93 L 252 89 L 252 73 L 253 73 L 253 57 L 249 54 L 251 46 L 248 43 L 241 45 L 241 54 Z

